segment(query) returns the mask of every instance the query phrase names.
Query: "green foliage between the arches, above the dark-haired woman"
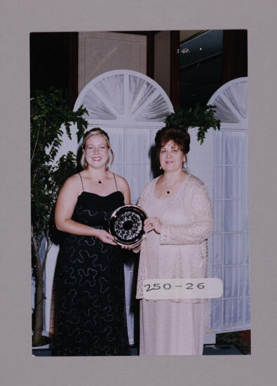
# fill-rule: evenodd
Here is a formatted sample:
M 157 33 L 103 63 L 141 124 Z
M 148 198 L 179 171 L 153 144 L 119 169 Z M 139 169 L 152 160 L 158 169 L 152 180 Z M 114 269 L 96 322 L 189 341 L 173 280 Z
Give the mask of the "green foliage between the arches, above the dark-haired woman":
M 209 128 L 220 130 L 220 121 L 215 118 L 215 106 L 212 105 L 201 107 L 197 104 L 189 109 L 175 107 L 174 112 L 169 114 L 164 122 L 165 126 L 176 126 L 184 130 L 197 128 L 197 140 L 201 145 Z

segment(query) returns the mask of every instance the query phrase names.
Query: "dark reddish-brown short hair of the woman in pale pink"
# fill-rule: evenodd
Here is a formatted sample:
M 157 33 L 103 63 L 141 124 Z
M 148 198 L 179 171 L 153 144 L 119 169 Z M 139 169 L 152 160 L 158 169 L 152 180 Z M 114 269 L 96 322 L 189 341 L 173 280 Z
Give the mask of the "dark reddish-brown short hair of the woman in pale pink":
M 177 128 L 175 126 L 165 126 L 157 131 L 155 137 L 157 156 L 159 157 L 161 148 L 170 140 L 178 145 L 182 153 L 185 155 L 189 152 L 189 144 L 191 138 L 187 130 Z

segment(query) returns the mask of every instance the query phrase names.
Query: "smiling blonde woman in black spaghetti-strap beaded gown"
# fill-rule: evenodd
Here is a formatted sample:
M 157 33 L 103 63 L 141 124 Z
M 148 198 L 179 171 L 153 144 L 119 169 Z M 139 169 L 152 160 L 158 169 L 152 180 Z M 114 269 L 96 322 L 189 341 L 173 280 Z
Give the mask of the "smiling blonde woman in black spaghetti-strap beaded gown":
M 107 133 L 88 131 L 83 171 L 58 196 L 55 223 L 65 237 L 56 267 L 56 356 L 128 354 L 123 257 L 108 226 L 112 212 L 130 204 L 130 189 L 109 171 L 112 158 Z

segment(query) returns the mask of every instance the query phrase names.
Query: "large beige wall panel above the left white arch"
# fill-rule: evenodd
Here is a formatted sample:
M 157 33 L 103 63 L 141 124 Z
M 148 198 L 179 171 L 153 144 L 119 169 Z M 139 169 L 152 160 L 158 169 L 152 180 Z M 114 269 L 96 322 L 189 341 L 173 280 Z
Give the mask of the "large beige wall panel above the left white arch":
M 79 32 L 78 91 L 112 69 L 147 73 L 147 36 L 117 32 Z

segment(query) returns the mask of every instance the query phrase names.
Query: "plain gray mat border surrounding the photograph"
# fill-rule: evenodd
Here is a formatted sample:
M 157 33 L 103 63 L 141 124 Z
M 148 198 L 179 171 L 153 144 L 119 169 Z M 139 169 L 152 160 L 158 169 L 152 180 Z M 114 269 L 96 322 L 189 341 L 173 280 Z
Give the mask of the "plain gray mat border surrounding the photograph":
M 2 0 L 0 385 L 273 385 L 276 378 L 276 1 Z M 32 357 L 29 32 L 248 29 L 252 355 Z

